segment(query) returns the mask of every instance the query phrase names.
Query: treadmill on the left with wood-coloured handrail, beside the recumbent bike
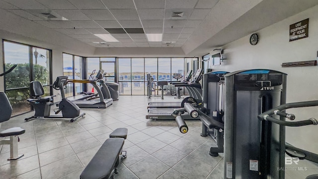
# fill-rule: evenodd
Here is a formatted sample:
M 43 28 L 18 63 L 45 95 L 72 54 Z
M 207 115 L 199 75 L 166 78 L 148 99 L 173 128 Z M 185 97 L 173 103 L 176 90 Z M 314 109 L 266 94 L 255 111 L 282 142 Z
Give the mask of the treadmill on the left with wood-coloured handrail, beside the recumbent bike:
M 104 70 L 100 69 L 97 72 L 97 75 L 95 79 L 93 80 L 88 80 L 88 79 L 83 79 L 83 80 L 78 80 L 78 79 L 69 79 L 68 83 L 90 83 L 92 86 L 96 89 L 97 95 L 93 95 L 92 97 L 85 97 L 82 98 L 82 95 L 77 95 L 77 96 L 71 96 L 68 97 L 67 99 L 75 103 L 76 105 L 79 106 L 79 108 L 107 108 L 108 106 L 113 104 L 113 99 L 110 98 L 110 95 L 103 95 L 103 92 L 101 91 L 100 87 L 97 85 L 99 83 L 104 89 L 103 90 L 108 90 L 107 86 L 105 85 L 102 77 L 103 77 L 103 72 Z M 108 90 L 109 94 L 109 90 Z

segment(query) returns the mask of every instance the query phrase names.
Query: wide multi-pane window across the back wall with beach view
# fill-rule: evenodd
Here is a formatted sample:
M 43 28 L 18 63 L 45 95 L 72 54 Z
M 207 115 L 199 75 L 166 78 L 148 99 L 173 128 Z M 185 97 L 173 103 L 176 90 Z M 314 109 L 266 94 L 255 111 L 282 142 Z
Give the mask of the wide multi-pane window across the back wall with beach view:
M 120 94 L 146 95 L 148 73 L 154 78 L 154 82 L 176 80 L 172 78 L 173 73 L 181 73 L 184 76 L 184 60 L 184 58 L 118 58 Z M 170 84 L 164 86 L 164 89 L 166 95 L 176 93 L 175 87 Z M 156 95 L 161 94 L 159 91 L 156 92 Z

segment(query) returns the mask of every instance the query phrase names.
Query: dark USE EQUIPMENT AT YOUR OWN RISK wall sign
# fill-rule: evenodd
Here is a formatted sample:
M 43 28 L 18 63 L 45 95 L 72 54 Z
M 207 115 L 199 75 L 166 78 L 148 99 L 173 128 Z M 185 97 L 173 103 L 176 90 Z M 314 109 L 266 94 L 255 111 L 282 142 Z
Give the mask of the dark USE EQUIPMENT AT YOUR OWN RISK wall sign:
M 308 37 L 309 18 L 289 26 L 289 42 Z

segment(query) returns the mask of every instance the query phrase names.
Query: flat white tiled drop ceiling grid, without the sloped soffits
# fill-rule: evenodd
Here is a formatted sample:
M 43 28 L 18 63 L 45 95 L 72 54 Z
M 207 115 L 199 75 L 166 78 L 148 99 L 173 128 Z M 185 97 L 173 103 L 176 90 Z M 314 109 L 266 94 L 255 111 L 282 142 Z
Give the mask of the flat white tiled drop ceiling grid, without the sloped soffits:
M 0 8 L 94 47 L 181 47 L 218 0 L 2 1 Z M 145 33 L 162 33 L 162 42 L 149 42 Z M 119 42 L 104 43 L 93 34 L 111 34 Z

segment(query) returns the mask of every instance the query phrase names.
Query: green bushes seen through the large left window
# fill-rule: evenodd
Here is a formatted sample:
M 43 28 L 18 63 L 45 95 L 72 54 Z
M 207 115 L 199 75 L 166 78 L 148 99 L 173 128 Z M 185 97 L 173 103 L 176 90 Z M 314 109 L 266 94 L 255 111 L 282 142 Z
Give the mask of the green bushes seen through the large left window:
M 6 63 L 5 70 L 8 70 L 13 64 Z M 45 66 L 35 64 L 33 66 L 34 79 L 42 84 L 48 83 L 49 72 Z M 19 63 L 10 73 L 5 75 L 6 95 L 10 100 L 11 105 L 26 103 L 26 99 L 30 98 L 30 64 Z M 26 87 L 26 88 L 25 88 Z M 12 89 L 13 88 L 13 89 Z M 23 89 L 14 89 L 23 88 Z M 12 89 L 12 90 L 8 90 Z

